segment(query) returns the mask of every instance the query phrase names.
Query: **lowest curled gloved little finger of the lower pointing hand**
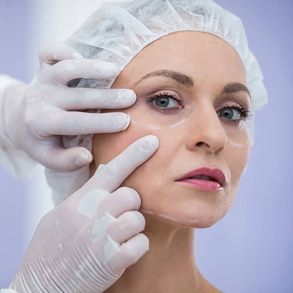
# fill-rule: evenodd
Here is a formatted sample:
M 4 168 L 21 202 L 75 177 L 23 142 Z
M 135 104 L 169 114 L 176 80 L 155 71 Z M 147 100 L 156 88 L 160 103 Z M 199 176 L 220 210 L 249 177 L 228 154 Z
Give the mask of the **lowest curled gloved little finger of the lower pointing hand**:
M 120 246 L 107 262 L 112 272 L 118 274 L 135 264 L 149 250 L 149 240 L 145 234 L 139 233 Z

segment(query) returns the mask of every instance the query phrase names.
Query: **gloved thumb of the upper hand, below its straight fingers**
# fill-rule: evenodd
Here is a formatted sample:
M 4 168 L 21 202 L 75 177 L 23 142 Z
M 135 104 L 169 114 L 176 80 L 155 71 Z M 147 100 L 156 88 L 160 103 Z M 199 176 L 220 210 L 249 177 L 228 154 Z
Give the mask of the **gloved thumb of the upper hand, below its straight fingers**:
M 39 150 L 38 153 L 38 162 L 60 172 L 75 171 L 89 164 L 93 159 L 90 151 L 81 146 L 64 148 L 61 145 L 51 145 L 45 152 Z

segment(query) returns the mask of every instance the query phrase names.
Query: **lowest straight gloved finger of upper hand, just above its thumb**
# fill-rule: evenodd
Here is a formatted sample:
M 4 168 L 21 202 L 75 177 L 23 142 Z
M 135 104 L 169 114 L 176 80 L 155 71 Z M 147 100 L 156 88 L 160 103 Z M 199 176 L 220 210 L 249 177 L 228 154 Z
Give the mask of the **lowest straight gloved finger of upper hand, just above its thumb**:
M 130 123 L 123 112 L 84 113 L 51 110 L 39 120 L 39 129 L 46 135 L 84 135 L 122 131 Z

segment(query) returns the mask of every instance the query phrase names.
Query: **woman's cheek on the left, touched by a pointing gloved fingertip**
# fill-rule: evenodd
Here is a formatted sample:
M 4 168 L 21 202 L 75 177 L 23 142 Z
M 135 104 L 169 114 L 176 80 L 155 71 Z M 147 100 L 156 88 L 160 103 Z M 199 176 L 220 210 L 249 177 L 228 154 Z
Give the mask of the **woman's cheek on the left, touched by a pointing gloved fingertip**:
M 104 112 L 110 112 L 110 110 L 104 110 Z M 163 174 L 169 173 L 170 165 L 174 157 L 176 157 L 175 154 L 182 147 L 181 142 L 182 135 L 185 133 L 185 126 L 182 124 L 177 127 L 163 127 L 160 123 L 161 119 L 154 119 L 154 115 L 151 115 L 151 112 L 147 111 L 147 109 L 144 109 L 144 111 L 139 109 L 137 111 L 135 109 L 131 111 L 123 110 L 123 112 L 130 116 L 130 124 L 126 130 L 94 135 L 93 169 L 99 167 L 100 164 L 107 164 L 138 139 L 146 135 L 155 135 L 159 139 L 159 148 L 146 162 L 142 162 L 121 186 L 134 188 L 138 192 L 145 194 L 146 190 L 143 190 L 144 184 L 141 182 L 142 178 L 144 178 L 145 182 L 152 182 L 153 187 L 161 188 Z M 144 113 L 143 117 L 141 117 L 142 112 Z M 174 136 L 176 137 L 175 141 Z M 177 166 L 178 164 L 175 165 Z

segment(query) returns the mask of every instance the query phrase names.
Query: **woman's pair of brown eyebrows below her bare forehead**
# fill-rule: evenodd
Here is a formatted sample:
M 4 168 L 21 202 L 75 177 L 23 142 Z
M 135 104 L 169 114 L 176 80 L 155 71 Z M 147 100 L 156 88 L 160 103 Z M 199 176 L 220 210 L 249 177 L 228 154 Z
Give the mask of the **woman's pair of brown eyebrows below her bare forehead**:
M 137 85 L 143 80 L 146 80 L 147 78 L 154 77 L 154 76 L 166 76 L 166 77 L 172 78 L 177 83 L 188 86 L 188 87 L 191 87 L 194 85 L 194 81 L 191 77 L 181 72 L 174 71 L 174 70 L 167 70 L 167 69 L 152 71 L 146 74 L 145 76 L 143 76 L 141 79 L 139 79 L 136 83 L 134 83 L 134 85 Z M 240 84 L 240 83 L 226 84 L 221 94 L 231 94 L 241 90 L 247 92 L 251 98 L 251 93 L 249 89 L 247 88 L 247 86 L 245 84 Z

